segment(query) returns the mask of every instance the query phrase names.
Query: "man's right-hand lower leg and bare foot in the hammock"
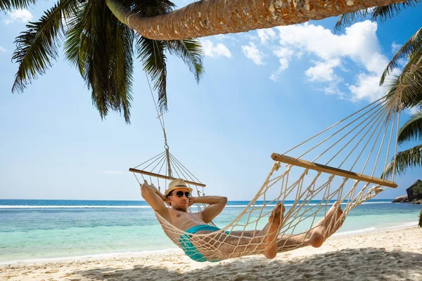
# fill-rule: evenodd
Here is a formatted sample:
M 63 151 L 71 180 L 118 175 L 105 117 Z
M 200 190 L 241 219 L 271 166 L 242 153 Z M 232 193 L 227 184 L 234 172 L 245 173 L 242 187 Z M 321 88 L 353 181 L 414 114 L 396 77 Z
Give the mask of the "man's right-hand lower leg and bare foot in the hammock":
M 328 210 L 326 216 L 321 218 L 315 226 L 309 229 L 306 233 L 298 235 L 283 235 L 279 236 L 277 247 L 283 249 L 295 249 L 311 245 L 312 247 L 321 247 L 322 243 L 330 237 L 335 231 L 340 228 L 342 223 L 338 219 L 343 214 L 343 211 L 338 202 L 334 202 L 333 206 Z

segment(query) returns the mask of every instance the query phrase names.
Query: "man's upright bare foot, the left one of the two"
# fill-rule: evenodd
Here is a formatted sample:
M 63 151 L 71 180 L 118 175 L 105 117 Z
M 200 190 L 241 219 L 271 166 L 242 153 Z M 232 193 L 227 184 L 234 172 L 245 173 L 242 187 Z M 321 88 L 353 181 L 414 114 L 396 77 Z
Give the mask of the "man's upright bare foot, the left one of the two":
M 274 259 L 277 255 L 277 230 L 283 222 L 283 214 L 285 210 L 286 208 L 284 208 L 283 204 L 279 203 L 272 211 L 271 216 L 269 216 L 268 235 L 265 237 L 265 242 L 271 246 L 264 251 L 264 256 L 267 257 L 267 259 Z

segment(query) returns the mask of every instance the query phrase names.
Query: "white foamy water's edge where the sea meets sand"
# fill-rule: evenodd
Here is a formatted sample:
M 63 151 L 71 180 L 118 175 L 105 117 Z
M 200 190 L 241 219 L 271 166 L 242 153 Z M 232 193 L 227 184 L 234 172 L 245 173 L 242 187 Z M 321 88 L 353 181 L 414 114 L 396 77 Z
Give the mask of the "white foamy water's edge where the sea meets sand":
M 405 230 L 407 228 L 417 228 L 418 222 L 401 223 L 397 226 L 390 226 L 388 228 L 364 228 L 361 230 L 349 230 L 339 233 L 334 233 L 330 240 L 335 240 L 340 237 L 354 237 L 357 235 L 366 235 L 371 233 L 383 233 L 389 230 Z M 323 245 L 324 247 L 324 245 Z M 103 254 L 84 254 L 78 256 L 56 256 L 51 258 L 39 259 L 20 259 L 11 261 L 0 261 L 0 268 L 10 265 L 32 265 L 40 263 L 56 263 L 56 262 L 72 262 L 72 261 L 92 261 L 98 259 L 118 259 L 118 258 L 138 258 L 143 256 L 159 256 L 161 254 L 184 254 L 184 252 L 177 246 L 174 248 L 160 249 L 160 250 L 145 250 L 145 251 L 126 251 L 117 253 L 103 253 Z

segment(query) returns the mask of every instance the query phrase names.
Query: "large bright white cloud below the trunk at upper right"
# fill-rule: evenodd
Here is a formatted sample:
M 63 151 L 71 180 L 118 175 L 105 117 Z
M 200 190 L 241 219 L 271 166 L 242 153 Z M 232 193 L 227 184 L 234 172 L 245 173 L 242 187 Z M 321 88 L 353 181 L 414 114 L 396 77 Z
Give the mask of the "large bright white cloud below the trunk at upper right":
M 388 63 L 388 59 L 381 53 L 381 47 L 376 37 L 378 26 L 376 22 L 366 20 L 347 27 L 345 34 L 333 34 L 320 25 L 305 23 L 276 27 L 279 46 L 273 52 L 279 58 L 280 67 L 271 74 L 270 79 L 288 68 L 290 61 L 300 58 L 303 54 L 316 56 L 314 65 L 305 71 L 309 81 L 329 83 L 323 87 L 326 93 L 343 93 L 338 89 L 341 72 L 347 60 L 352 60 L 358 73 L 353 85 L 347 85 L 350 90 L 350 100 L 375 100 L 383 94 L 378 85 L 379 77 Z M 258 32 L 262 42 L 267 42 L 273 36 L 268 30 Z

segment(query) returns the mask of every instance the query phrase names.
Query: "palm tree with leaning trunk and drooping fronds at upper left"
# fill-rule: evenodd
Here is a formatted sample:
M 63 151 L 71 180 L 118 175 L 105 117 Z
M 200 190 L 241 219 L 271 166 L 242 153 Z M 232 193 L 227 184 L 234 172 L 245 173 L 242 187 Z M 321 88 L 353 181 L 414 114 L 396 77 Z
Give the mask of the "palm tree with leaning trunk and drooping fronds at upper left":
M 0 0 L 0 11 L 36 1 Z M 109 110 L 123 110 L 129 122 L 133 44 L 155 81 L 160 110 L 166 110 L 165 51 L 181 57 L 197 81 L 203 74 L 200 44 L 191 37 L 293 25 L 409 1 L 418 0 L 202 0 L 173 11 L 169 0 L 58 0 L 16 39 L 13 59 L 19 70 L 13 91 L 23 91 L 51 66 L 64 35 L 66 58 L 92 89 L 101 117 Z

